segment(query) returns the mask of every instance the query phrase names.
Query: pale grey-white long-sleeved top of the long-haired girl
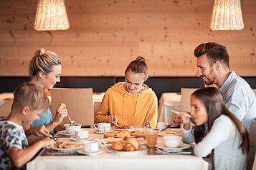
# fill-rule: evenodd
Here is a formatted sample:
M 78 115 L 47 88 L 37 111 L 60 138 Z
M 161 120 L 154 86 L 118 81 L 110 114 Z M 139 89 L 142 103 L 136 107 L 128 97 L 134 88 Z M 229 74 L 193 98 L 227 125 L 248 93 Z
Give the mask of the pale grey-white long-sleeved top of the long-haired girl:
M 184 143 L 194 142 L 194 132 L 192 127 L 186 131 L 182 126 Z M 194 154 L 205 157 L 211 154 L 214 149 L 214 169 L 246 169 L 247 154 L 242 154 L 240 134 L 237 126 L 228 116 L 221 115 L 217 118 L 211 131 L 194 146 Z

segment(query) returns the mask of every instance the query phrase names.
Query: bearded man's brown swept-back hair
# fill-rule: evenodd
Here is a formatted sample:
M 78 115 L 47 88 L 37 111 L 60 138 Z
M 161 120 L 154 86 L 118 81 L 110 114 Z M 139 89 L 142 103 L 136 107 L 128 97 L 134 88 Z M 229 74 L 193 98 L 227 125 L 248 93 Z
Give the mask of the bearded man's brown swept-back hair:
M 207 42 L 196 46 L 196 49 L 194 49 L 194 56 L 200 57 L 204 54 L 207 54 L 211 66 L 216 61 L 219 61 L 229 69 L 229 54 L 227 54 L 227 48 L 225 46 L 215 42 Z

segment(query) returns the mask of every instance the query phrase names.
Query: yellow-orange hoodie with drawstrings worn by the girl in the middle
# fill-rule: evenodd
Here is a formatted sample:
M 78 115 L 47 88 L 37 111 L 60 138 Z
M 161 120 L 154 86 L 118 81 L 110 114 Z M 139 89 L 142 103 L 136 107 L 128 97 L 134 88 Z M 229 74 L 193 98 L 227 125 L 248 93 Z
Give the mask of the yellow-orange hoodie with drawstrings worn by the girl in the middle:
M 123 88 L 124 82 L 111 86 L 95 114 L 95 123 L 107 122 L 108 112 L 116 115 L 118 124 L 156 128 L 158 109 L 157 97 L 151 88 L 143 84 L 144 89 L 136 94 L 129 94 Z

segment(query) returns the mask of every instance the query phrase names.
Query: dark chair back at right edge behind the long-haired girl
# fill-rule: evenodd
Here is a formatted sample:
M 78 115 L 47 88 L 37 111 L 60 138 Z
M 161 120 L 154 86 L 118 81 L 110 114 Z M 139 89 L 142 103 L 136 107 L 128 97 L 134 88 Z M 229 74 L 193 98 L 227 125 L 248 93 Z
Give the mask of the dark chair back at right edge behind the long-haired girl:
M 255 149 L 256 149 L 256 121 L 252 121 L 250 128 L 250 151 L 247 156 L 247 170 L 252 170 L 252 165 L 256 164 L 255 161 Z M 254 165 L 255 166 L 255 165 Z M 255 167 L 256 169 L 256 167 Z

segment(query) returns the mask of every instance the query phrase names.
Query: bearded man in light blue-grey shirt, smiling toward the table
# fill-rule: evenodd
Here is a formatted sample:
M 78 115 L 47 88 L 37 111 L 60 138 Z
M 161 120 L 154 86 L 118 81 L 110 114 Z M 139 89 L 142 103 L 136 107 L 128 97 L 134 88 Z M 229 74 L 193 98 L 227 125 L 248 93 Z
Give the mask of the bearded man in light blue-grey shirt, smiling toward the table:
M 229 70 L 229 54 L 221 44 L 208 42 L 200 44 L 194 50 L 196 76 L 200 76 L 207 85 L 215 84 L 222 91 L 227 108 L 237 116 L 250 132 L 252 120 L 256 118 L 256 99 L 251 87 L 240 76 Z M 179 124 L 176 114 L 171 123 Z

